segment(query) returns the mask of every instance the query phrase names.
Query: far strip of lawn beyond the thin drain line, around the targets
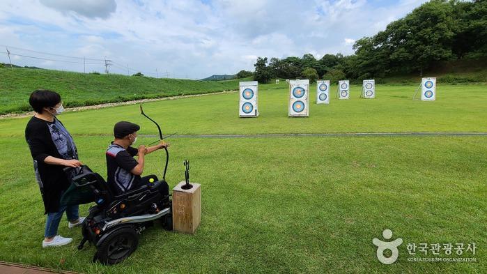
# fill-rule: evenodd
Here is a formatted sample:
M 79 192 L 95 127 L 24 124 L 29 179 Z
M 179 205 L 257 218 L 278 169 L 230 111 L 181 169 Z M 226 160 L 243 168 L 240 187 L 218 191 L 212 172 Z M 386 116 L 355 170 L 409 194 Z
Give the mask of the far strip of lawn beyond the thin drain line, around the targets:
M 331 90 L 336 88 L 332 85 Z M 257 119 L 238 118 L 238 93 L 150 102 L 144 108 L 161 123 L 164 133 L 487 132 L 485 84 L 440 85 L 434 102 L 412 100 L 417 86 L 401 85 L 378 85 L 376 99 L 359 99 L 361 86 L 353 85 L 350 100 L 334 99 L 333 93 L 330 105 L 314 103 L 316 85 L 311 85 L 307 118 L 288 117 L 285 83 L 261 85 L 259 89 L 261 115 Z M 114 123 L 121 120 L 141 124 L 142 133 L 157 131 L 140 115 L 138 105 L 66 113 L 62 118 L 73 134 L 110 134 Z M 26 119 L 1 121 L 9 130 L 0 132 L 0 137 L 24 130 L 25 123 Z

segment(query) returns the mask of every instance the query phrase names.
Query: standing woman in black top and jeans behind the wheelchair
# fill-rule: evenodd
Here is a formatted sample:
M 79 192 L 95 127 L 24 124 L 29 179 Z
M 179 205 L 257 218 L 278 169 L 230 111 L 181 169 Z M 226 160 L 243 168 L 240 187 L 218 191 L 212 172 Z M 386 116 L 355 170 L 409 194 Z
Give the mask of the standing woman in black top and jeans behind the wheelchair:
M 72 238 L 57 235 L 59 222 L 64 211 L 68 227 L 77 227 L 84 218 L 79 218 L 78 205 L 61 206 L 61 195 L 70 181 L 63 168 L 79 167 L 78 153 L 68 130 L 56 115 L 63 112 L 61 96 L 54 91 L 36 90 L 29 98 L 29 104 L 36 114 L 27 123 L 25 139 L 33 158 L 34 171 L 47 214 L 42 248 L 67 245 Z

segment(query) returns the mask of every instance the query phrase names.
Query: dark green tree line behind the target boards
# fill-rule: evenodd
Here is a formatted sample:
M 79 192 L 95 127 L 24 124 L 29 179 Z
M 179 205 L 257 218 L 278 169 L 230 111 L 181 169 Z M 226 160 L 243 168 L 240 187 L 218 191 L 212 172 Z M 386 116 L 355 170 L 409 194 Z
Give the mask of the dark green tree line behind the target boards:
M 258 82 L 272 78 L 320 77 L 339 79 L 382 78 L 418 73 L 435 62 L 487 57 L 487 0 L 432 0 L 405 17 L 391 22 L 384 31 L 357 40 L 355 54 L 313 54 L 286 59 L 258 57 L 255 72 L 241 70 L 238 78 L 254 75 Z

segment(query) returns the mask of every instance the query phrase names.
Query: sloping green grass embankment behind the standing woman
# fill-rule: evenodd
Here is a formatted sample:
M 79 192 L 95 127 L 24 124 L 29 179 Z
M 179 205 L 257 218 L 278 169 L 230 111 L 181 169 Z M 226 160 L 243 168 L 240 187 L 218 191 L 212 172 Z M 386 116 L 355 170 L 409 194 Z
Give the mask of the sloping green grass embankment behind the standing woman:
M 0 114 L 29 111 L 28 98 L 36 89 L 58 91 L 65 98 L 65 107 L 79 107 L 106 102 L 228 91 L 238 86 L 236 80 L 210 82 L 23 68 L 0 68 L 0 79 Z

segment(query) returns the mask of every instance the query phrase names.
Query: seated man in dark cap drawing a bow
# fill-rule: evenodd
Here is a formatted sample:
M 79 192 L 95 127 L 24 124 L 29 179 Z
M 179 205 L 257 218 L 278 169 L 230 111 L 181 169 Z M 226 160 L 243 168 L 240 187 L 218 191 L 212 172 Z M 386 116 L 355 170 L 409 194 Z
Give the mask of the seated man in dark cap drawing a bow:
M 161 142 L 155 146 L 141 145 L 139 149 L 134 149 L 131 145 L 137 141 L 137 131 L 139 125 L 130 122 L 118 122 L 114 126 L 115 139 L 107 149 L 107 183 L 112 189 L 116 190 L 116 195 L 121 195 L 132 189 L 139 188 L 141 185 L 149 183 L 150 178 L 155 176 L 146 176 L 141 178 L 144 172 L 144 156 L 157 149 L 168 147 L 169 144 Z M 137 155 L 137 160 L 133 157 Z M 169 187 L 167 187 L 169 195 Z

